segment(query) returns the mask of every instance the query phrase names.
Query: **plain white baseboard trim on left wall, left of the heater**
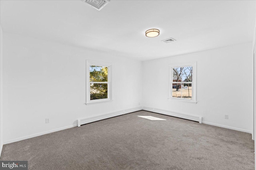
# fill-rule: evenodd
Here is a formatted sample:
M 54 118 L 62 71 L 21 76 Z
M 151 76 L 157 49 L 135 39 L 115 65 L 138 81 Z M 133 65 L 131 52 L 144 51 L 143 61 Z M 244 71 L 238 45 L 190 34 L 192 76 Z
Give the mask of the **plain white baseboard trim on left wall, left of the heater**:
M 44 131 L 44 132 L 40 132 L 40 133 L 35 133 L 33 135 L 27 135 L 27 136 L 24 136 L 24 137 L 18 137 L 18 138 L 11 139 L 11 140 L 8 140 L 8 141 L 4 141 L 4 145 L 8 144 L 8 143 L 22 141 L 24 139 L 29 139 L 29 138 L 32 138 L 32 137 L 37 137 L 37 136 L 45 135 L 45 134 L 52 133 L 52 132 L 61 131 L 61 130 L 64 130 L 64 129 L 69 129 L 69 128 L 72 128 L 72 127 L 76 127 L 76 124 L 65 126 L 65 127 L 60 127 L 58 129 L 52 129 L 50 131 Z

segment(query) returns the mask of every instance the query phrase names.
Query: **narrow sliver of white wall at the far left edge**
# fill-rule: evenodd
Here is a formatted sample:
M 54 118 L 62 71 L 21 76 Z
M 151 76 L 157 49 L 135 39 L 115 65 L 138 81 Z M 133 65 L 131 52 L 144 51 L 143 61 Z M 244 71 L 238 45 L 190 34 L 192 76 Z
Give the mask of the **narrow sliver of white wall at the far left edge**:
M 3 31 L 0 25 L 0 156 L 3 147 Z

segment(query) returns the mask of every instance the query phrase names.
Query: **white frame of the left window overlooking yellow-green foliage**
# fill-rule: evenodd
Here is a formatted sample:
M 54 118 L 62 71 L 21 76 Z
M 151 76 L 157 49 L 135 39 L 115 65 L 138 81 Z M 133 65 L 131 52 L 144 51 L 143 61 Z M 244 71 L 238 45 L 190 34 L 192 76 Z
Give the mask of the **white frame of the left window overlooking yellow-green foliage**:
M 90 100 L 90 65 L 108 67 L 108 82 L 101 82 L 108 84 L 108 98 Z M 99 61 L 86 60 L 86 105 L 98 104 L 105 102 L 112 102 L 112 64 Z

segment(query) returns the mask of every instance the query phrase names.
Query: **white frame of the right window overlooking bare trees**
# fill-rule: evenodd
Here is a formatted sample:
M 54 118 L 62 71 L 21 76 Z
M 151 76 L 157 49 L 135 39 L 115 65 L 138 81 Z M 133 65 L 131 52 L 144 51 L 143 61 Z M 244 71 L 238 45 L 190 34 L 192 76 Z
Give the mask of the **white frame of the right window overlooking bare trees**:
M 193 79 L 192 79 L 192 99 L 185 99 L 185 98 L 174 98 L 172 97 L 172 83 L 173 83 L 173 68 L 177 67 L 186 67 L 186 66 L 192 66 L 193 72 Z M 179 83 L 179 82 L 177 82 Z M 186 83 L 186 82 L 184 82 Z M 184 63 L 184 64 L 172 64 L 169 65 L 169 86 L 168 86 L 168 99 L 172 101 L 179 101 L 179 102 L 191 102 L 196 104 L 196 62 L 195 63 Z M 182 84 L 182 83 L 181 83 Z

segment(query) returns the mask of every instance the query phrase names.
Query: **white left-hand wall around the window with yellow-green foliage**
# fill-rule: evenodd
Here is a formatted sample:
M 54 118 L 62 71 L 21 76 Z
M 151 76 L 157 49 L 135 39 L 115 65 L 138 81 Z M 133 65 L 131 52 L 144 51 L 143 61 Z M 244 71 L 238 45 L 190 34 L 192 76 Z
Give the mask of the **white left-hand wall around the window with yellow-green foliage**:
M 86 59 L 112 63 L 113 102 L 85 105 Z M 142 99 L 142 62 L 134 59 L 4 32 L 3 60 L 4 143 L 138 107 Z

